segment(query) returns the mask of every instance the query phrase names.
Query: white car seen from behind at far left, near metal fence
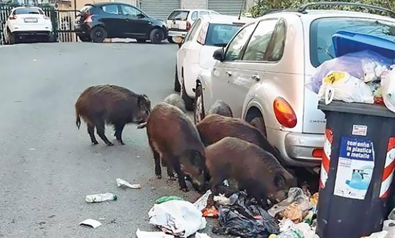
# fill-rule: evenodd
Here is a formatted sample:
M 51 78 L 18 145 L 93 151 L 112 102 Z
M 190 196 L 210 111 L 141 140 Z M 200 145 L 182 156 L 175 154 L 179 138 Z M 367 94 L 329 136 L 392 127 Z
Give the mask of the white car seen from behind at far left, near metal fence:
M 52 42 L 52 22 L 40 7 L 15 7 L 5 23 L 4 41 L 15 44 L 21 39 L 35 38 Z

